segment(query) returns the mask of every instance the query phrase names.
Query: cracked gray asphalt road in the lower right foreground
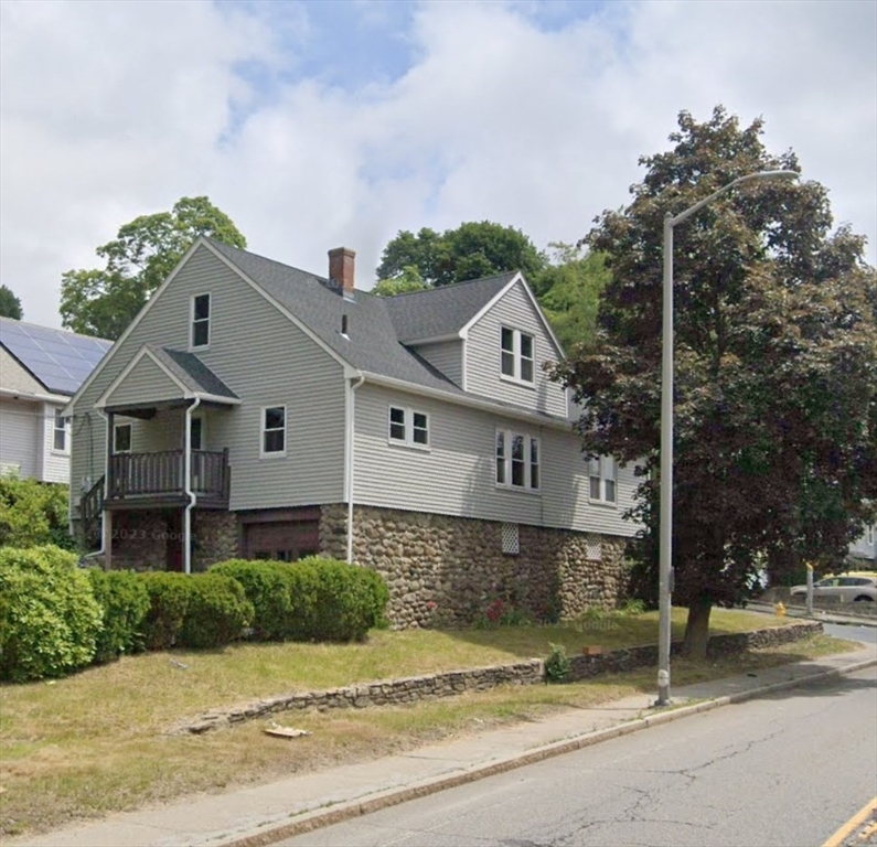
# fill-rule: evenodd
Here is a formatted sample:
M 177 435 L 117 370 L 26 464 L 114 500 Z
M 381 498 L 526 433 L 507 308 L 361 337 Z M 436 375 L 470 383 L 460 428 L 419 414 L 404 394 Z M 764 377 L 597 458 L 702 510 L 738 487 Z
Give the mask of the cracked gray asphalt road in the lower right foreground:
M 875 717 L 877 669 L 869 668 L 654 727 L 282 844 L 815 847 L 877 793 Z

